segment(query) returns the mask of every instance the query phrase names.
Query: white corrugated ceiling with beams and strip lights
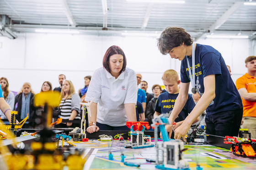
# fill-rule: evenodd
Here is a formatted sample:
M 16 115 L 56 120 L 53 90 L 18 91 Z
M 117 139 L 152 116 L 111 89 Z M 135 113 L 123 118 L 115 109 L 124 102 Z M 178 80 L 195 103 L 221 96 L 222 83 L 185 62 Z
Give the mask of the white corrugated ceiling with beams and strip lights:
M 160 33 L 167 26 L 177 26 L 195 39 L 211 33 L 256 36 L 256 6 L 244 5 L 245 0 L 138 1 L 107 0 L 104 15 L 101 0 L 0 0 L 0 33 L 69 29 L 121 35 L 125 31 Z

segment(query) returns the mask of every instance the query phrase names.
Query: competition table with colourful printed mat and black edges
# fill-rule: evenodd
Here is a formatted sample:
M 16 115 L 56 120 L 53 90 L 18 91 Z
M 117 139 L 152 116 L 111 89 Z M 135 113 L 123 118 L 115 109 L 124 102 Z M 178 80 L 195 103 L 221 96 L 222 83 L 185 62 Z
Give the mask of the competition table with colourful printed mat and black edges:
M 61 132 L 64 131 L 67 135 L 71 129 L 58 129 Z M 127 131 L 128 132 L 128 131 Z M 156 148 L 142 148 L 131 149 L 124 148 L 124 141 L 113 140 L 99 141 L 99 135 L 114 135 L 126 132 L 120 131 L 104 131 L 93 134 L 87 134 L 86 137 L 89 141 L 70 141 L 75 144 L 76 147 L 70 146 L 64 143 L 65 150 L 69 150 L 70 153 L 79 150 L 81 156 L 86 160 L 84 170 L 155 170 L 155 163 L 147 160 L 155 160 Z M 153 136 L 153 131 L 145 131 L 145 135 Z M 126 139 L 127 136 L 123 135 Z M 25 136 L 22 136 L 25 137 Z M 199 164 L 203 167 L 203 170 L 256 170 L 256 158 L 240 157 L 233 155 L 230 151 L 230 145 L 223 143 L 223 137 L 209 135 L 207 137 L 207 144 L 191 144 L 184 145 L 187 148 L 183 152 L 183 158 L 189 163 L 191 170 L 196 170 L 196 165 Z M 158 141 L 161 143 L 162 141 Z M 153 142 L 154 143 L 154 142 Z M 211 144 L 211 145 L 209 145 Z M 215 145 L 215 146 L 214 146 Z M 255 149 L 255 146 L 253 146 Z M 109 152 L 113 154 L 113 160 L 109 160 Z M 121 162 L 121 154 L 125 155 L 130 163 L 140 163 L 140 167 L 126 166 Z

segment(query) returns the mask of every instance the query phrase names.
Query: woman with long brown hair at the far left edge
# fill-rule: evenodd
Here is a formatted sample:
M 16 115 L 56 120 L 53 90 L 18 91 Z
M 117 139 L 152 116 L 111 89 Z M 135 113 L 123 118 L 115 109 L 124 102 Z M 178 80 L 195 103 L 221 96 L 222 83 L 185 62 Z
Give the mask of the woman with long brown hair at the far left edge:
M 11 110 L 14 108 L 14 94 L 9 91 L 9 82 L 5 77 L 0 78 L 0 85 L 2 89 L 2 95 L 8 105 L 11 106 Z M 0 119 L 7 119 L 3 112 L 0 110 Z

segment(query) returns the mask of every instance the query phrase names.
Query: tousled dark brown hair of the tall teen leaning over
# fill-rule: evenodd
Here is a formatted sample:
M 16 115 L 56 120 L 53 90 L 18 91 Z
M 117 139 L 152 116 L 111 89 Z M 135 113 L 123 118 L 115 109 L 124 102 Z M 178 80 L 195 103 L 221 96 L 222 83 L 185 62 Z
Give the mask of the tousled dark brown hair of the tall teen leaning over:
M 191 36 L 179 27 L 167 27 L 157 40 L 158 49 L 163 55 L 168 54 L 173 48 L 182 45 L 182 43 L 187 46 L 193 43 Z

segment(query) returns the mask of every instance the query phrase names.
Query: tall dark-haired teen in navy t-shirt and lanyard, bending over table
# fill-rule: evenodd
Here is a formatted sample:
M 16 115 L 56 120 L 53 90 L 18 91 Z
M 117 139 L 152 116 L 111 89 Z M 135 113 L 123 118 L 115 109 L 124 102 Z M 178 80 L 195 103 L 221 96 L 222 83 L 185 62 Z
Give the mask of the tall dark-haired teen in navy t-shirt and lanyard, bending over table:
M 192 43 L 191 36 L 183 28 L 177 27 L 167 27 L 158 39 L 158 48 L 162 54 L 181 60 L 181 89 L 169 121 L 173 122 L 185 105 L 190 82 L 192 92 L 197 91 L 201 95 L 192 112 L 175 130 L 174 138 L 185 137 L 192 122 L 204 110 L 207 112 L 207 134 L 237 136 L 243 105 L 224 59 L 213 47 Z M 171 132 L 171 125 L 166 130 Z

